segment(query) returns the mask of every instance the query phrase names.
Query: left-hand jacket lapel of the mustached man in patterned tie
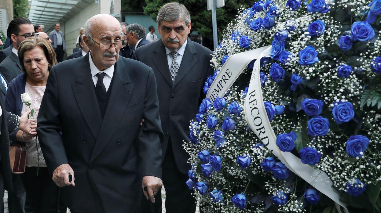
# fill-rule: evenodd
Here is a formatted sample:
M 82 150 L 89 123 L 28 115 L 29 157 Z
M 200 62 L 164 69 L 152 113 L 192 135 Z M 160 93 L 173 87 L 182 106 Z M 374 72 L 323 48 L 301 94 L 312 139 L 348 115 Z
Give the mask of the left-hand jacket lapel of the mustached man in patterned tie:
M 155 55 L 152 57 L 156 68 L 160 71 L 165 81 L 172 86 L 172 78 L 168 67 L 168 60 L 166 58 L 165 46 L 162 40 L 156 41 L 156 48 L 154 49 Z

